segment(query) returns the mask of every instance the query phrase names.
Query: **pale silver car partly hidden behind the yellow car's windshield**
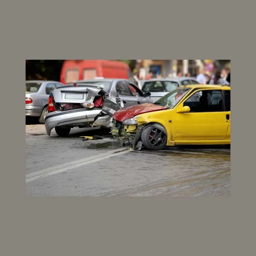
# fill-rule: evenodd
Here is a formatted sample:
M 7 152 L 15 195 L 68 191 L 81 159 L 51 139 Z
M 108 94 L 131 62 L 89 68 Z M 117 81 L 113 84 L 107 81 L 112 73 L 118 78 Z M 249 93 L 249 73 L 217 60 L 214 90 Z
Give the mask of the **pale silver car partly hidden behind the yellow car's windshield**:
M 151 99 L 158 100 L 163 97 L 168 92 L 175 90 L 181 85 L 187 84 L 199 84 L 195 78 L 192 77 L 177 77 L 177 78 L 160 78 L 160 79 L 150 79 L 141 80 L 140 84 L 142 86 L 142 91 L 150 92 Z

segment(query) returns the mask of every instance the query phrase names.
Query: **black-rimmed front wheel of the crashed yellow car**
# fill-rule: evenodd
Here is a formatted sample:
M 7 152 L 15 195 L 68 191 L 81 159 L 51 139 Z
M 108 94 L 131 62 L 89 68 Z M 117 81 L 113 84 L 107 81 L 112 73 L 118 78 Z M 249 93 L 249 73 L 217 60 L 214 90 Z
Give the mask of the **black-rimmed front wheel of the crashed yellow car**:
M 161 150 L 167 144 L 166 129 L 157 123 L 149 125 L 143 129 L 141 141 L 147 149 Z

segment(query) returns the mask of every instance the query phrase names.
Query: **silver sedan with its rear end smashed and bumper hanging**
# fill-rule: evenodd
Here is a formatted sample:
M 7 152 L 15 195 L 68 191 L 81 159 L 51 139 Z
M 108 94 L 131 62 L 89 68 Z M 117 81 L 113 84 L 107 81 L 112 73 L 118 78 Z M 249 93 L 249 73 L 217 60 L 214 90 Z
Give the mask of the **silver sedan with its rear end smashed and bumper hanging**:
M 75 84 L 75 86 L 74 86 Z M 150 93 L 144 94 L 125 79 L 94 79 L 76 81 L 56 88 L 49 98 L 54 111 L 46 115 L 45 127 L 50 136 L 67 136 L 72 127 L 112 127 L 112 115 L 123 107 L 153 103 Z

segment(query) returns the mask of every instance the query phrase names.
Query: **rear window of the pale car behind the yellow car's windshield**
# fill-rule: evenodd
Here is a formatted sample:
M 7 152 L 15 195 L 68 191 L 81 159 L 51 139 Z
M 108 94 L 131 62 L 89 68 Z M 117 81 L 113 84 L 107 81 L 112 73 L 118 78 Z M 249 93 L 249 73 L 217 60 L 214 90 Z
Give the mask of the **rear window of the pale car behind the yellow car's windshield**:
M 144 82 L 143 92 L 171 92 L 175 90 L 179 84 L 173 81 L 148 81 Z

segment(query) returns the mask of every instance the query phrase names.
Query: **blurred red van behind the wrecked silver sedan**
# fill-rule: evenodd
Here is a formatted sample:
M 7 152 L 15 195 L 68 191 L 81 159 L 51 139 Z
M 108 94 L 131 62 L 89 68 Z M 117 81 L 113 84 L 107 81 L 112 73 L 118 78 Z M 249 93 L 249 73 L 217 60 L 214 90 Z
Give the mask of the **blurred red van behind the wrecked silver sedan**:
M 72 83 L 95 77 L 133 79 L 129 66 L 114 60 L 65 60 L 61 68 L 60 82 Z

